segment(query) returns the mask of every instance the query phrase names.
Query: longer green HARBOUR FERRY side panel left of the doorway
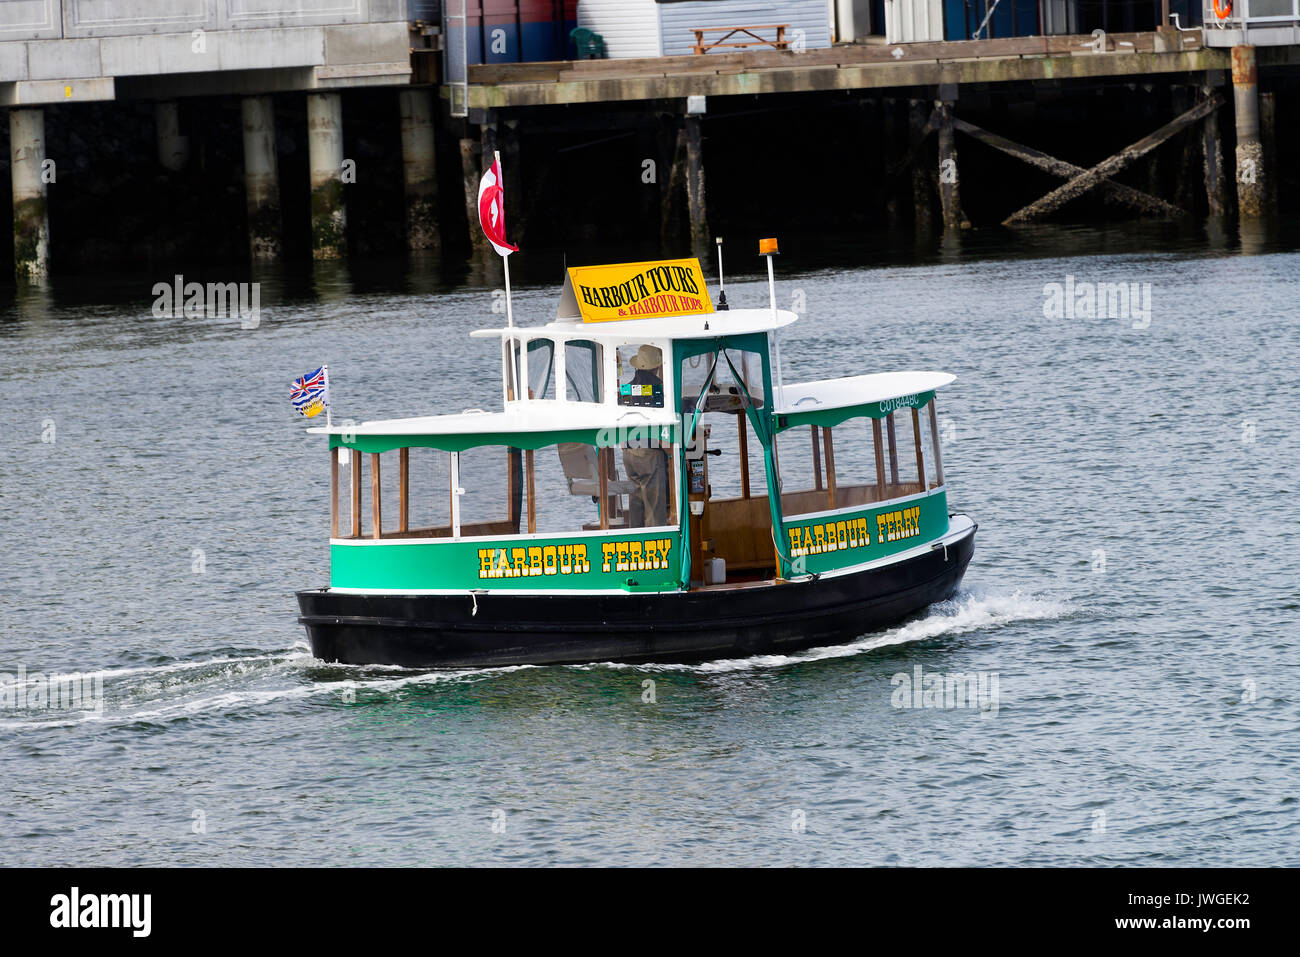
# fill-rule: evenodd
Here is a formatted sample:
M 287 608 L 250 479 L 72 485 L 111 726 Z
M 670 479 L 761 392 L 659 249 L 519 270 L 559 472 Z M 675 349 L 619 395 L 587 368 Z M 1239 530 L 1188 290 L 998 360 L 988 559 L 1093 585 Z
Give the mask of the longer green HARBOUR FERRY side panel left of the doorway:
M 614 550 L 607 553 L 606 545 Z M 330 585 L 399 590 L 676 590 L 680 549 L 681 536 L 676 529 L 659 534 L 560 534 L 459 542 L 334 542 Z

